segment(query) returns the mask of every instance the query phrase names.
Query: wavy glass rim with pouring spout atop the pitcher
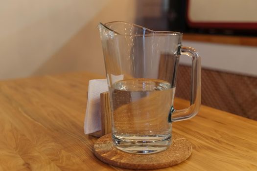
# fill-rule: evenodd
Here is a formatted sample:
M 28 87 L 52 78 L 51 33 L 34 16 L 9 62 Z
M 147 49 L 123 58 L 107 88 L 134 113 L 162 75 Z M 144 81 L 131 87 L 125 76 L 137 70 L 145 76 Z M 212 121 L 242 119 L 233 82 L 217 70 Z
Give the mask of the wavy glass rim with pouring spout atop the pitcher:
M 144 30 L 148 30 L 149 32 L 151 32 L 152 34 L 133 34 L 133 35 L 126 35 L 126 34 L 120 34 L 118 32 L 116 32 L 115 30 L 109 28 L 106 24 L 110 24 L 110 23 L 115 23 L 115 22 L 123 22 L 123 23 L 128 23 L 128 24 L 132 24 L 134 26 L 140 27 Z M 176 32 L 176 31 L 155 31 L 155 30 L 151 30 L 149 28 L 143 27 L 141 25 L 138 24 L 134 24 L 131 22 L 126 22 L 126 21 L 110 21 L 110 22 L 106 22 L 106 23 L 102 23 L 100 22 L 99 24 L 103 25 L 105 28 L 107 28 L 110 31 L 113 31 L 114 33 L 116 33 L 117 35 L 121 35 L 121 36 L 153 36 L 153 35 L 164 35 L 164 36 L 183 36 L 183 33 L 181 32 Z

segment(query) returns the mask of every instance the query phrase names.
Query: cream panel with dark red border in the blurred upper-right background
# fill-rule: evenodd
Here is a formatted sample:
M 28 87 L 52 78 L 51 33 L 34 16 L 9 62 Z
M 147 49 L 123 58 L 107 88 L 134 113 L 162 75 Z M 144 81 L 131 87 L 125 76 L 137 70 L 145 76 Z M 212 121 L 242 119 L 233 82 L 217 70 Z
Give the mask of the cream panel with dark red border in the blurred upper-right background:
M 192 28 L 257 30 L 257 0 L 187 0 Z

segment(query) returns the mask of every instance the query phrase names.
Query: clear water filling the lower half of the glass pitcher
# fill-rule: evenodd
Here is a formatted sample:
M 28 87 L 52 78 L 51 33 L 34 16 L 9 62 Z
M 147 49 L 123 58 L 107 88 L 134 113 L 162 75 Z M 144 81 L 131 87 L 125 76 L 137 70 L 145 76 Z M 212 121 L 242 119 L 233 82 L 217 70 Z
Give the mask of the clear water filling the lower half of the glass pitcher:
M 174 93 L 175 87 L 163 80 L 130 79 L 114 83 L 110 94 L 116 147 L 132 153 L 167 149 L 171 143 L 168 116 Z

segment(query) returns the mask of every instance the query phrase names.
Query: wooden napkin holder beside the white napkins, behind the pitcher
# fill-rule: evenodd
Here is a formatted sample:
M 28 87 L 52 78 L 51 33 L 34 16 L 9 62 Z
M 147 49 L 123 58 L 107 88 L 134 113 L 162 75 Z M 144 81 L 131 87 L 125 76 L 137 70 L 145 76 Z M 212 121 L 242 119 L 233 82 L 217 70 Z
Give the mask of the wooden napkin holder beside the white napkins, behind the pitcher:
M 94 137 L 101 137 L 105 134 L 112 132 L 112 119 L 111 119 L 112 111 L 110 107 L 109 92 L 103 92 L 100 94 L 100 111 L 101 111 L 101 130 L 90 134 Z

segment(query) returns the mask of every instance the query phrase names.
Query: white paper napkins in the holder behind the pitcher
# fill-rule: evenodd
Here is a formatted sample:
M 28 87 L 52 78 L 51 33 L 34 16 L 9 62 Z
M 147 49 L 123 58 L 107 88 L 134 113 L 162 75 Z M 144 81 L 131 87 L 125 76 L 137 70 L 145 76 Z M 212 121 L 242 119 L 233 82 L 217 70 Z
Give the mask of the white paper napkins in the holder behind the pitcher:
M 101 130 L 100 93 L 108 91 L 106 79 L 90 80 L 84 121 L 85 134 Z

